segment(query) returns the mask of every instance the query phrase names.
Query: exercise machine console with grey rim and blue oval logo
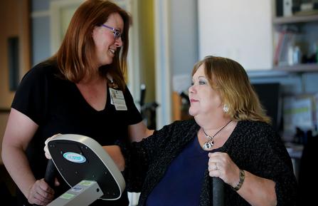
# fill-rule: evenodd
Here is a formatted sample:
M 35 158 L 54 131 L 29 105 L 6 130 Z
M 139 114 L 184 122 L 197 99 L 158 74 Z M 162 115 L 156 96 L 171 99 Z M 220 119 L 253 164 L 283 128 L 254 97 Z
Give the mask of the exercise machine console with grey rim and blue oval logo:
M 57 135 L 48 141 L 48 150 L 52 159 L 46 170 L 46 181 L 52 181 L 47 179 L 52 179 L 49 173 L 55 167 L 70 185 L 70 190 L 48 206 L 86 206 L 97 199 L 117 200 L 121 197 L 124 177 L 110 155 L 92 138 Z

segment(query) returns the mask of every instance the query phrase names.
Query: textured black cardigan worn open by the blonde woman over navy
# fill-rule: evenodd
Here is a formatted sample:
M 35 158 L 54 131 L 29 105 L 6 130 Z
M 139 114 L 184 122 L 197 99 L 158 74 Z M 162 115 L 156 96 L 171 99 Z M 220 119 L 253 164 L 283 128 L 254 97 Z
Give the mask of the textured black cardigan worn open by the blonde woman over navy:
M 139 205 L 146 204 L 149 193 L 164 177 L 172 160 L 189 141 L 197 138 L 199 128 L 194 120 L 177 121 L 164 126 L 142 142 L 133 143 L 132 150 L 122 147 L 127 158 L 127 187 L 134 192 L 141 191 Z M 297 182 L 292 161 L 285 145 L 270 125 L 258 121 L 240 121 L 218 151 L 228 153 L 239 168 L 275 181 L 278 206 L 295 205 Z M 191 169 L 196 170 L 195 167 L 189 167 Z M 179 175 L 182 175 L 182 171 Z M 212 178 L 208 176 L 206 163 L 199 205 L 213 204 L 211 189 Z M 225 184 L 224 196 L 225 205 L 249 205 L 230 185 Z

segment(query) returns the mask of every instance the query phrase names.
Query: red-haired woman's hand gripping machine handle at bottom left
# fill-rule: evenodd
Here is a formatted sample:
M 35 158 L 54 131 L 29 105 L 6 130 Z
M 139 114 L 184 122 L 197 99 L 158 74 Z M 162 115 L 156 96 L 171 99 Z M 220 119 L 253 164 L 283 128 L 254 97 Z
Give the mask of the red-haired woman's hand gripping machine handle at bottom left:
M 28 202 L 36 205 L 48 205 L 54 198 L 54 190 L 44 181 L 36 180 L 28 190 Z

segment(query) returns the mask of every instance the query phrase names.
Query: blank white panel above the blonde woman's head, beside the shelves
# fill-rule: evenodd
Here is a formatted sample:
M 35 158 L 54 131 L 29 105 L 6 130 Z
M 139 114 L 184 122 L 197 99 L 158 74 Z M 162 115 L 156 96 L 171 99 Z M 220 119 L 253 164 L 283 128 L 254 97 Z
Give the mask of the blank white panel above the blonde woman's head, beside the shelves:
M 198 0 L 199 58 L 224 56 L 272 68 L 272 1 Z

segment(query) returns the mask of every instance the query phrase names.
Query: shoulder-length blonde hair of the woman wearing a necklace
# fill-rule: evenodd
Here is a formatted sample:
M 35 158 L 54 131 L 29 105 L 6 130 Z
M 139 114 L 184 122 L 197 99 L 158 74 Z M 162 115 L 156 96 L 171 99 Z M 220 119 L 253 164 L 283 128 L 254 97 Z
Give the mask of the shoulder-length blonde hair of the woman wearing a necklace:
M 192 76 L 201 65 L 211 87 L 220 94 L 223 104 L 228 105 L 226 114 L 231 119 L 271 122 L 240 63 L 230 58 L 206 56 L 194 65 Z

